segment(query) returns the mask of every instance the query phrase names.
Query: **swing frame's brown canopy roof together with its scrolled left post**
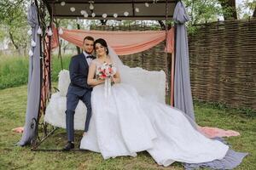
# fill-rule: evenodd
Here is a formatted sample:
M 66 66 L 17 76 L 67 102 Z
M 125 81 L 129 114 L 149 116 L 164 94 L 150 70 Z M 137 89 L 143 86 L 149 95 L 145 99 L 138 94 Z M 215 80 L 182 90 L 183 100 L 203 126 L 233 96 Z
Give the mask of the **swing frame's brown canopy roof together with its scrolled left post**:
M 34 0 L 43 34 L 41 36 L 41 101 L 38 118 L 31 124 L 36 128 L 32 149 L 37 149 L 38 145 L 56 129 L 42 121 L 51 94 L 51 37 L 47 36 L 47 30 L 53 26 L 55 19 L 158 20 L 163 24 L 163 21 L 172 20 L 177 2 L 178 0 Z M 168 29 L 166 25 L 165 29 L 166 31 Z M 166 68 L 168 69 L 170 68 Z

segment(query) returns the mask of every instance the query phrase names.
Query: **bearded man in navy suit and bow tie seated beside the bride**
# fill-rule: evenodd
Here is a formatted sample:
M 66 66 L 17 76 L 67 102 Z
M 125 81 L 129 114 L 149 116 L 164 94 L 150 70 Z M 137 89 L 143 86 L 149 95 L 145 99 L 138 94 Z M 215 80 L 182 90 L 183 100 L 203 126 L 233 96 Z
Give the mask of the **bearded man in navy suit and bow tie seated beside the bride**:
M 92 88 L 87 84 L 87 75 L 93 52 L 93 37 L 84 37 L 83 53 L 73 56 L 69 65 L 70 84 L 67 90 L 67 111 L 66 111 L 66 128 L 67 128 L 67 144 L 63 150 L 71 150 L 74 148 L 74 127 L 73 116 L 75 109 L 81 99 L 87 107 L 87 116 L 85 120 L 84 133 L 88 131 L 91 105 L 90 94 Z

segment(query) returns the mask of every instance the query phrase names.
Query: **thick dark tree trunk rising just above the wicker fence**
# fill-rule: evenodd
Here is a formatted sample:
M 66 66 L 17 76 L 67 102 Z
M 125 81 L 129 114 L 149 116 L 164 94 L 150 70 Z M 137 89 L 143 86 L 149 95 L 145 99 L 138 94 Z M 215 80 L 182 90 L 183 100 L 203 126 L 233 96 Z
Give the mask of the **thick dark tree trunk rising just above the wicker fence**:
M 236 0 L 218 0 L 221 7 L 224 9 L 224 20 L 230 20 L 230 18 L 237 20 L 236 14 Z

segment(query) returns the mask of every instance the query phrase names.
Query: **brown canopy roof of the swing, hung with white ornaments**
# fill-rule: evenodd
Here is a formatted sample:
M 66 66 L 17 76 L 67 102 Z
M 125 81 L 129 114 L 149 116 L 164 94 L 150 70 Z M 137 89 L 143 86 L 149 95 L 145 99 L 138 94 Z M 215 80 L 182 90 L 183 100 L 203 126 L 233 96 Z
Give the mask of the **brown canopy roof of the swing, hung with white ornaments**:
M 177 0 L 158 0 L 157 3 L 153 3 L 152 0 L 94 0 L 93 10 L 89 9 L 90 0 L 63 0 L 65 5 L 61 5 L 61 0 L 41 0 L 43 1 L 49 10 L 49 14 L 55 18 L 80 18 L 85 20 L 166 20 L 166 3 L 168 5 L 167 18 L 172 19 L 173 10 Z M 149 3 L 149 7 L 145 5 Z M 71 11 L 73 7 L 76 10 Z M 136 8 L 139 8 L 137 12 Z M 89 17 L 84 18 L 84 15 L 80 14 L 81 10 L 88 12 Z M 92 17 L 91 14 L 95 13 L 96 16 Z M 129 15 L 125 16 L 125 12 Z M 107 18 L 103 18 L 102 14 L 107 14 Z M 117 18 L 113 17 L 113 14 L 118 14 Z

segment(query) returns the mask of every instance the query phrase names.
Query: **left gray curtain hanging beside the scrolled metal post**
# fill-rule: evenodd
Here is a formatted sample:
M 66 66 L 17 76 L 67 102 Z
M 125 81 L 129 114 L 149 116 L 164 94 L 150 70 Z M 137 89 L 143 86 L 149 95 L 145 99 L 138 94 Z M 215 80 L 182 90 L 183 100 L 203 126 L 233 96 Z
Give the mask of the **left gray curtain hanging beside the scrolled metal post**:
M 26 123 L 20 139 L 21 146 L 31 144 L 35 135 L 36 120 L 40 102 L 40 35 L 38 35 L 38 9 L 34 3 L 27 12 L 28 24 L 32 27 L 32 39 L 36 42 L 31 47 L 33 55 L 29 57 L 29 73 L 27 84 Z M 33 124 L 33 126 L 32 126 Z

